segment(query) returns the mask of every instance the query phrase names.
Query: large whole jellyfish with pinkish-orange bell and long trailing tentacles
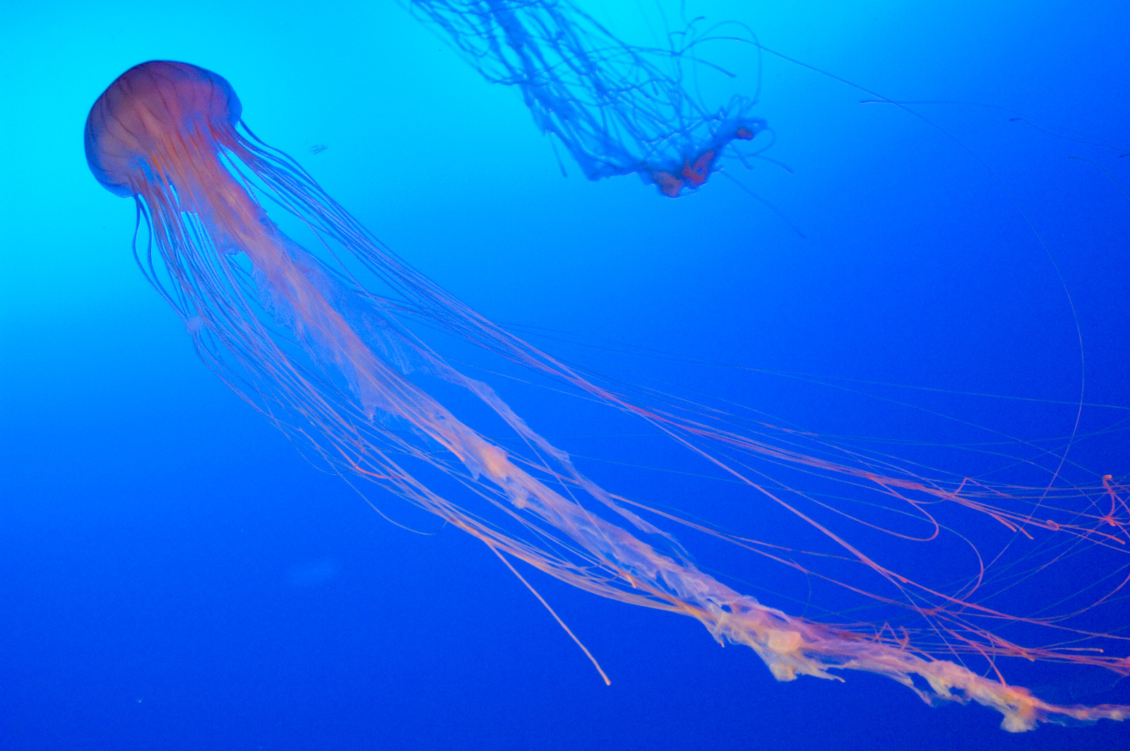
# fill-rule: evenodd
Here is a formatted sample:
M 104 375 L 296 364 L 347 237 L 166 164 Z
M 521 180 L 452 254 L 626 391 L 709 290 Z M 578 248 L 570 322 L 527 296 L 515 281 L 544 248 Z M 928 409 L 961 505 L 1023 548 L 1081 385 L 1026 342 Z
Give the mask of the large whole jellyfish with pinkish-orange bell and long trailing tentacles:
M 956 588 L 916 584 L 822 519 L 817 506 L 826 499 L 790 491 L 768 472 L 794 467 L 814 481 L 869 489 L 877 503 L 932 520 L 935 534 L 941 525 L 931 504 L 991 519 L 1018 537 L 1040 536 L 1052 558 L 1045 564 L 1023 560 L 1023 578 L 1090 550 L 1124 555 L 1127 489 L 1115 480 L 1105 477 L 1097 494 L 1043 486 L 1028 497 L 1015 484 L 931 480 L 889 460 L 852 459 L 827 443 L 812 447 L 811 437 L 796 430 L 661 395 L 646 398 L 631 383 L 582 371 L 493 323 L 398 258 L 297 163 L 254 136 L 227 80 L 192 64 L 151 61 L 122 74 L 92 107 L 85 145 L 97 181 L 134 199 L 138 266 L 181 318 L 200 359 L 311 461 L 366 495 L 399 497 L 473 536 L 534 595 L 519 562 L 602 597 L 693 618 L 719 642 L 753 649 L 777 680 L 876 673 L 928 702 L 990 707 L 1008 731 L 1130 716 L 1127 706 L 1044 701 L 997 670 L 1011 657 L 1130 672 L 1130 658 L 1076 646 L 1101 633 L 1071 627 L 1066 615 L 1012 615 L 979 599 L 989 563 L 977 581 Z M 312 240 L 293 239 L 298 231 Z M 750 502 L 807 525 L 837 558 L 887 587 L 868 590 L 844 581 L 845 589 L 901 607 L 927 625 L 793 615 L 731 587 L 696 564 L 663 527 L 695 529 L 832 578 L 801 562 L 799 546 L 790 551 L 606 490 L 495 388 L 457 368 L 427 331 L 469 343 L 650 426 L 747 490 Z M 487 415 L 492 431 L 502 425 L 512 440 L 472 426 L 459 408 L 441 402 L 441 392 L 462 394 L 478 405 L 477 420 Z M 806 498 L 814 504 L 805 507 Z M 1057 541 L 1066 541 L 1067 551 Z M 1114 577 L 1098 602 L 1122 588 L 1124 571 L 1122 562 L 1095 576 Z M 1017 576 L 1015 568 L 1007 571 L 1008 586 Z M 1055 629 L 1061 646 L 1025 646 L 985 623 Z M 991 670 L 982 674 L 966 658 L 983 659 Z

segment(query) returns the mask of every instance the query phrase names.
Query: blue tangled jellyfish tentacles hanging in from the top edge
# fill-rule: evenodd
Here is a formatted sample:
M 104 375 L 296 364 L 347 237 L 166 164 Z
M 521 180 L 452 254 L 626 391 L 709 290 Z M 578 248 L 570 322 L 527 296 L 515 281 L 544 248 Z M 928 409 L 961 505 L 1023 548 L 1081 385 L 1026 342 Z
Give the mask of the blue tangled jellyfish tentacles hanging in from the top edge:
M 694 54 L 716 38 L 697 31 L 701 19 L 663 49 L 621 42 L 563 0 L 410 0 L 408 9 L 486 80 L 518 87 L 541 132 L 589 180 L 636 174 L 677 198 L 702 187 L 728 150 L 748 166 L 737 146 L 766 130 L 750 114 L 756 97 L 710 107 L 687 80 L 698 68 L 727 72 Z

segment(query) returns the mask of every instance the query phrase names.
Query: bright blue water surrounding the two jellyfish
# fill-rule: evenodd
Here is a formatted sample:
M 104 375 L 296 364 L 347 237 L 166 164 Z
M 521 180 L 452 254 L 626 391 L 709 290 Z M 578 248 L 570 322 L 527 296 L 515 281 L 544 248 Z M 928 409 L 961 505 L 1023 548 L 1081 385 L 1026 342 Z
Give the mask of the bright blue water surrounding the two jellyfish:
M 631 178 L 562 179 L 515 95 L 392 2 L 97 5 L 17 2 L 0 24 L 0 748 L 1130 740 L 1113 723 L 1010 736 L 988 710 L 930 709 L 864 675 L 779 684 L 697 623 L 533 579 L 611 675 L 606 688 L 481 545 L 389 525 L 194 359 L 133 266 L 131 202 L 90 178 L 80 137 L 128 67 L 193 62 L 233 83 L 258 135 L 496 320 L 895 383 L 866 390 L 1049 439 L 1072 432 L 1070 404 L 902 387 L 1078 400 L 1077 321 L 1085 400 L 1130 405 L 1125 3 L 695 2 L 887 97 L 933 102 L 916 109 L 940 128 L 765 61 L 757 114 L 779 138 L 768 156 L 792 173 L 732 173 L 803 239 L 724 180 L 671 201 Z M 637 3 L 620 5 L 590 7 L 643 33 Z M 637 364 L 827 434 L 971 434 L 889 402 L 664 363 Z M 524 406 L 548 434 L 572 417 L 551 400 Z M 1125 414 L 1088 407 L 1080 434 L 1112 430 L 1071 457 L 1130 473 Z M 593 472 L 616 483 L 615 468 Z M 662 498 L 662 476 L 632 482 L 617 490 Z M 707 518 L 711 502 L 679 500 Z M 1127 702 L 1112 683 L 1069 671 L 1053 698 Z

